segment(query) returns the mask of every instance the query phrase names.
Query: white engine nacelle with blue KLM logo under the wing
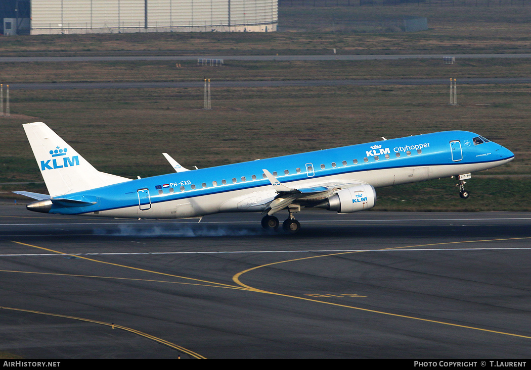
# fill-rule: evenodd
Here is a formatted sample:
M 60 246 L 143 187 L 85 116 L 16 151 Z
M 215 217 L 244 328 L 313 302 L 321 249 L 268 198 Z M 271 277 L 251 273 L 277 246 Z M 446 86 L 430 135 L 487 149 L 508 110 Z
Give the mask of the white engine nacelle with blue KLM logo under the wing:
M 372 208 L 376 205 L 376 190 L 369 184 L 339 190 L 328 197 L 318 207 L 335 210 L 339 213 L 351 213 Z

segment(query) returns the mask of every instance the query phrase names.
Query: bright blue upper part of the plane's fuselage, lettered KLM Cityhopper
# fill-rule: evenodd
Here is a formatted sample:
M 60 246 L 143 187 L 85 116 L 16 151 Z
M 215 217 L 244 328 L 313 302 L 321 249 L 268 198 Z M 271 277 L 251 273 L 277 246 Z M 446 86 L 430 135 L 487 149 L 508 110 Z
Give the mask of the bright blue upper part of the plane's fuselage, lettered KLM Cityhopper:
M 88 207 L 61 208 L 53 206 L 50 213 L 80 214 L 96 210 L 138 207 L 137 191 L 140 189 L 148 189 L 151 203 L 155 204 L 162 201 L 268 186 L 270 182 L 268 179 L 262 178 L 262 169 L 267 169 L 271 173 L 278 172 L 279 181 L 289 184 L 292 181 L 319 179 L 344 173 L 426 165 L 486 163 L 506 160 L 513 156 L 508 149 L 493 142 L 474 145 L 472 139 L 477 136 L 477 134 L 468 131 L 445 131 L 201 170 L 170 173 L 68 194 L 62 198 L 91 195 L 99 197 L 100 202 Z M 452 160 L 450 142 L 453 140 L 459 140 L 462 149 L 462 159 L 458 162 Z M 465 145 L 466 142 L 469 143 L 468 146 Z M 421 149 L 421 154 L 417 153 L 417 147 Z M 407 151 L 410 152 L 410 155 L 407 155 Z M 400 157 L 396 157 L 397 152 L 400 153 Z M 375 154 L 379 156 L 378 161 L 374 158 Z M 389 159 L 385 158 L 386 154 L 389 155 Z M 367 158 L 367 162 L 364 162 L 364 158 Z M 353 163 L 355 159 L 357 164 Z M 343 161 L 346 161 L 347 164 L 343 165 Z M 306 173 L 307 163 L 313 165 L 314 175 L 311 177 Z M 336 163 L 336 166 L 332 167 L 332 163 Z M 325 165 L 324 169 L 321 169 L 321 164 Z M 297 168 L 301 172 L 297 173 Z M 285 170 L 288 170 L 289 174 L 285 174 Z M 256 180 L 252 180 L 252 175 L 256 175 Z M 242 177 L 245 177 L 246 181 L 242 181 Z M 233 178 L 236 179 L 236 183 L 233 183 Z M 227 184 L 222 185 L 221 180 L 226 180 Z M 212 181 L 216 181 L 217 186 L 213 186 Z M 168 188 L 165 188 L 162 189 L 162 195 L 159 195 L 158 189 L 155 189 L 158 185 L 181 182 L 188 183 L 184 185 L 184 191 L 179 190 L 180 186 L 174 186 L 173 193 L 169 193 Z M 206 184 L 205 188 L 202 188 L 202 183 Z M 195 185 L 194 190 L 191 189 L 192 184 Z

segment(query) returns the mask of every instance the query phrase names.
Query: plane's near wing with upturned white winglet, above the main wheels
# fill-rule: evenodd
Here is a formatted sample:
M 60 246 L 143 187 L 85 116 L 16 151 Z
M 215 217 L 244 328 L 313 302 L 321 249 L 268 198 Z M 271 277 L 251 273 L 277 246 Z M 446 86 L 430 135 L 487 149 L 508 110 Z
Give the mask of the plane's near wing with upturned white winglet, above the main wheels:
M 268 170 L 262 170 L 265 176 L 275 188 L 277 196 L 271 201 L 269 207 L 266 208 L 263 214 L 267 213 L 269 216 L 279 212 L 291 204 L 298 204 L 299 202 L 311 202 L 323 200 L 335 194 L 341 189 L 351 188 L 357 185 L 365 184 L 365 182 L 326 182 L 322 184 L 315 184 L 311 188 L 289 188 L 285 184 L 278 181 Z

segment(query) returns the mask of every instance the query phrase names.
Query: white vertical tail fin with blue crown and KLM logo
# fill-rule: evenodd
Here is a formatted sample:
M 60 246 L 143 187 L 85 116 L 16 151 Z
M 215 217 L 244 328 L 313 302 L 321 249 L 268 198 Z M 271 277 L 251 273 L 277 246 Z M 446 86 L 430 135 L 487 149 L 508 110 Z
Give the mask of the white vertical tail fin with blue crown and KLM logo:
M 42 122 L 22 126 L 50 196 L 56 197 L 130 180 L 99 172 Z

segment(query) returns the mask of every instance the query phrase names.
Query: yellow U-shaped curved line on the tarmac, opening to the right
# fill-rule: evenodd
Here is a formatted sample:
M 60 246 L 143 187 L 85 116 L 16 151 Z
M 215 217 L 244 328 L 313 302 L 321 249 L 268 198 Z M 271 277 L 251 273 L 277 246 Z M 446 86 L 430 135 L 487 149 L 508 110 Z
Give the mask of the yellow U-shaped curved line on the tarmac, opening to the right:
M 418 247 L 421 247 L 421 246 L 431 246 L 431 245 L 447 245 L 447 244 L 479 243 L 479 242 L 500 242 L 500 241 L 508 241 L 508 240 L 525 240 L 525 239 L 531 239 L 531 237 L 512 237 L 512 238 L 507 238 L 507 239 L 470 240 L 470 241 L 461 241 L 461 242 L 447 242 L 447 243 L 420 244 L 420 245 L 400 246 L 400 247 L 396 247 L 396 248 L 382 248 L 381 250 L 404 249 L 404 248 L 418 248 Z M 240 285 L 240 286 L 242 286 L 242 287 L 245 287 L 245 288 L 247 288 L 247 289 L 249 289 L 249 290 L 252 290 L 253 292 L 257 292 L 257 293 L 265 293 L 265 294 L 271 294 L 271 295 L 276 295 L 276 296 L 281 296 L 281 297 L 288 297 L 288 298 L 301 299 L 302 301 L 307 301 L 307 302 L 315 302 L 315 303 L 321 303 L 321 304 L 328 304 L 328 305 L 331 305 L 331 306 L 344 307 L 344 308 L 346 308 L 346 309 L 351 309 L 351 310 L 359 310 L 359 311 L 364 311 L 364 312 L 378 313 L 378 314 L 382 314 L 382 315 L 395 316 L 395 317 L 398 317 L 398 318 L 404 318 L 404 319 L 412 319 L 412 320 L 418 320 L 418 321 L 424 321 L 424 322 L 431 322 L 431 323 L 437 323 L 437 324 L 443 324 L 443 325 L 450 325 L 450 326 L 452 326 L 452 327 L 457 327 L 457 328 L 473 329 L 473 330 L 479 330 L 479 331 L 484 331 L 484 332 L 490 332 L 490 333 L 496 333 L 496 334 L 503 334 L 503 335 L 506 335 L 506 336 L 512 336 L 512 337 L 519 337 L 519 338 L 531 339 L 531 336 L 523 336 L 523 335 L 520 335 L 520 334 L 513 334 L 513 333 L 507 333 L 507 332 L 503 332 L 503 331 L 496 331 L 496 330 L 482 329 L 482 328 L 476 328 L 476 327 L 469 327 L 469 326 L 467 326 L 467 325 L 452 324 L 452 323 L 450 323 L 450 322 L 437 321 L 437 320 L 429 320 L 429 319 L 422 319 L 422 318 L 416 318 L 415 316 L 399 315 L 399 314 L 396 314 L 396 313 L 390 313 L 390 312 L 384 312 L 384 311 L 376 311 L 376 310 L 363 309 L 362 307 L 355 307 L 355 306 L 349 306 L 349 305 L 344 305 L 344 304 L 337 304 L 337 303 L 332 303 L 332 302 L 324 302 L 324 301 L 319 301 L 318 299 L 311 299 L 311 298 L 298 297 L 298 296 L 293 296 L 293 295 L 288 295 L 288 294 L 280 294 L 280 293 L 275 293 L 275 292 L 269 292 L 268 290 L 263 290 L 263 289 L 253 288 L 253 287 L 251 287 L 251 286 L 249 286 L 249 285 L 243 284 L 243 283 L 239 280 L 239 278 L 240 278 L 243 274 L 245 274 L 246 272 L 250 272 L 250 271 L 253 271 L 253 270 L 256 270 L 256 269 L 262 268 L 262 267 L 268 267 L 268 266 L 278 265 L 278 264 L 280 264 L 280 263 L 287 263 L 287 262 L 294 262 L 294 261 L 303 261 L 303 260 L 309 260 L 309 259 L 313 259 L 313 258 L 322 258 L 322 257 L 330 257 L 330 256 L 340 256 L 341 254 L 361 253 L 361 252 L 364 252 L 364 251 L 330 253 L 330 254 L 322 254 L 322 255 L 320 255 L 320 256 L 312 256 L 312 257 L 296 258 L 296 259 L 292 259 L 292 260 L 285 260 L 285 261 L 278 261 L 278 262 L 266 263 L 265 265 L 255 266 L 255 267 L 252 267 L 252 268 L 250 268 L 250 269 L 247 269 L 247 270 L 244 270 L 244 271 L 238 272 L 236 275 L 233 276 L 233 280 L 234 280 L 234 282 L 235 282 L 236 284 L 238 284 L 238 285 Z

